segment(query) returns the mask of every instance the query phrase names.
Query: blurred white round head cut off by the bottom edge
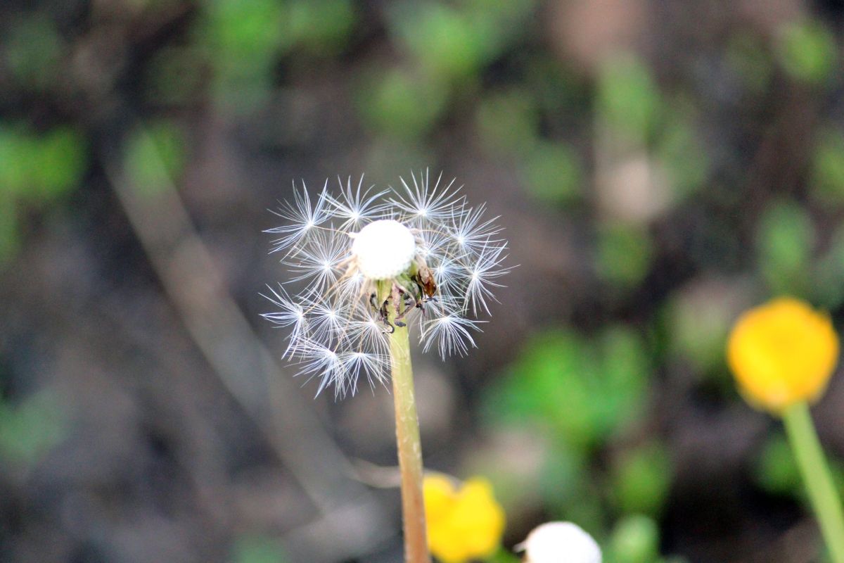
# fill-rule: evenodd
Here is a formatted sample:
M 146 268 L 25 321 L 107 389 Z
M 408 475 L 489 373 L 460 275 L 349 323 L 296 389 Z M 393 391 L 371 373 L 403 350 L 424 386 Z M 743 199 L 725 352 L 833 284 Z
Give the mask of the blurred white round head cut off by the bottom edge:
M 516 549 L 525 552 L 525 563 L 601 563 L 601 548 L 571 522 L 546 522 L 533 528 Z

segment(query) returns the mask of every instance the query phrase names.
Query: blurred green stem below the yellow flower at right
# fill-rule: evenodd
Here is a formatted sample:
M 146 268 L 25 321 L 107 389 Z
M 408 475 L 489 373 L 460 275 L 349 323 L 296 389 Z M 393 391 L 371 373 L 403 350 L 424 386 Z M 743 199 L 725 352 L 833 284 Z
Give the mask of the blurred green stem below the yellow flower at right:
M 844 563 L 844 513 L 841 512 L 841 499 L 833 484 L 818 434 L 814 430 L 809 405 L 797 403 L 787 408 L 782 413 L 782 421 L 832 561 Z

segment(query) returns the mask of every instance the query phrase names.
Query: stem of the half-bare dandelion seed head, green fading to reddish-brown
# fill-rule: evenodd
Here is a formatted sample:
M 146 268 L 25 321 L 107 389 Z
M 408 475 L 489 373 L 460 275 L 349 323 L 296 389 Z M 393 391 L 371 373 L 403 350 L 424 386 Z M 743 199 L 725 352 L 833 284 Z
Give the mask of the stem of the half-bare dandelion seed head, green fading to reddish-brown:
M 381 293 L 381 292 L 379 292 Z M 390 320 L 394 319 L 390 307 Z M 414 399 L 414 372 L 410 364 L 410 339 L 406 327 L 390 335 L 392 398 L 396 407 L 398 467 L 402 476 L 402 516 L 406 563 L 430 563 L 422 495 L 422 441 Z

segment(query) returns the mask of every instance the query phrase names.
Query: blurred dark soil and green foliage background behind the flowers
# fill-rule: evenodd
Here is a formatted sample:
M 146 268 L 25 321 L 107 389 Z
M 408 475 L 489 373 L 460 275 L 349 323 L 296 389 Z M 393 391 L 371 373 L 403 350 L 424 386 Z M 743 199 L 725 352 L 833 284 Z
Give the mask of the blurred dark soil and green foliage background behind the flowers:
M 291 181 L 430 167 L 518 264 L 467 358 L 414 362 L 425 463 L 504 544 L 815 561 L 725 337 L 844 321 L 844 3 L 4 0 L 0 560 L 394 562 L 392 402 L 259 316 Z M 844 477 L 844 382 L 814 409 Z M 844 484 L 844 479 L 841 479 Z

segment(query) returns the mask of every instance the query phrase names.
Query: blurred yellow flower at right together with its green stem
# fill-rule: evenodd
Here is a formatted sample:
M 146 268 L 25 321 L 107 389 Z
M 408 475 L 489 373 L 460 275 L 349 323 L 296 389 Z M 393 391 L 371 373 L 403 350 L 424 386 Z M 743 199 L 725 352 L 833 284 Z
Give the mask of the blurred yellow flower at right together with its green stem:
M 830 317 L 803 301 L 780 298 L 738 318 L 727 359 L 748 402 L 782 416 L 831 560 L 844 563 L 844 512 L 809 414 L 809 403 L 820 398 L 835 370 L 838 350 Z

